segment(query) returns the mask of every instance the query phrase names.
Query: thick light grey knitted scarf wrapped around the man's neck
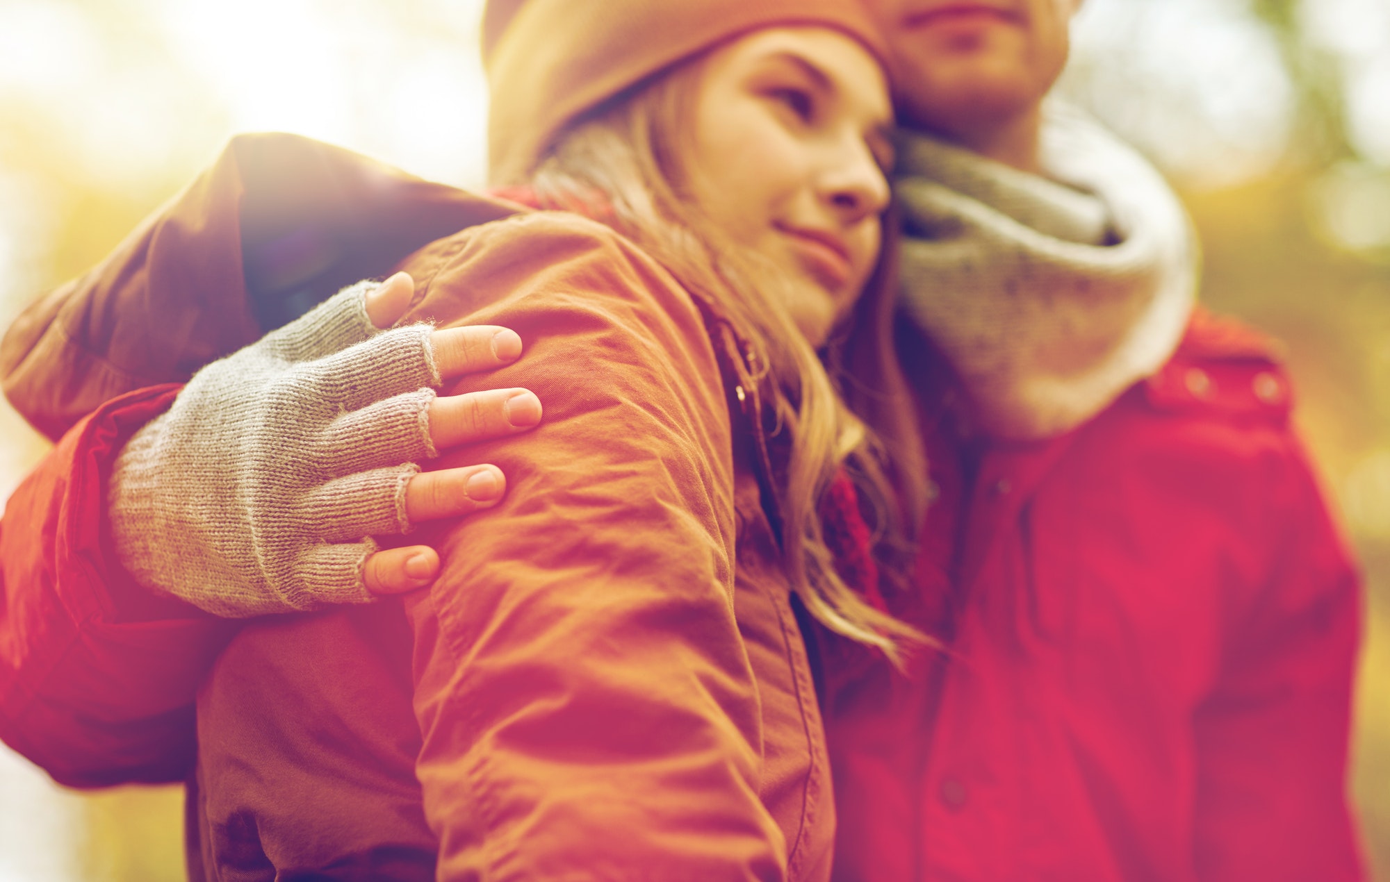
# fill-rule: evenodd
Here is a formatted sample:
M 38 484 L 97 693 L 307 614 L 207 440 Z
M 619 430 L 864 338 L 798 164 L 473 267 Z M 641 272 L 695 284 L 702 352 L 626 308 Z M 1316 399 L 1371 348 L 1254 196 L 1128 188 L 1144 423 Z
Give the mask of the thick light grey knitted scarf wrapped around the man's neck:
M 1038 176 L 903 136 L 902 308 L 959 374 L 979 429 L 1086 422 L 1182 340 L 1191 224 L 1162 176 L 1080 111 L 1045 107 Z

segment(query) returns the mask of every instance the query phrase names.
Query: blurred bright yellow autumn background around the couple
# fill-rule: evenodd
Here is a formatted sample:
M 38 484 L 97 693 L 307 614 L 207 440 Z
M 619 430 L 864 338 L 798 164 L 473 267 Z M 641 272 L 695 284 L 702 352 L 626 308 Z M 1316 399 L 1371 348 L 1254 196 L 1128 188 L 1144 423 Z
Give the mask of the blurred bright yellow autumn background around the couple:
M 480 8 L 0 0 L 0 325 L 234 132 L 478 186 Z M 1369 582 L 1352 786 L 1390 882 L 1390 0 L 1087 0 L 1063 90 L 1183 192 L 1207 304 L 1287 344 Z M 0 499 L 44 447 L 0 404 Z M 60 790 L 0 747 L 0 882 L 182 879 L 181 810 L 178 789 Z

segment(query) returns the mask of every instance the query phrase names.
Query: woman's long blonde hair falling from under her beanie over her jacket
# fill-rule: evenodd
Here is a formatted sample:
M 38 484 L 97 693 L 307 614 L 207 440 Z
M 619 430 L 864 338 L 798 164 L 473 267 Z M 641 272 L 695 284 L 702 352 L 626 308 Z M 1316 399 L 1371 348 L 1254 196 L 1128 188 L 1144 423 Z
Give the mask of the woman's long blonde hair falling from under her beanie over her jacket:
M 682 125 L 702 69 L 701 60 L 689 61 L 588 114 L 563 133 L 530 183 L 548 207 L 594 207 L 598 194 L 610 222 L 748 344 L 778 439 L 785 433 L 790 446 L 776 494 L 792 590 L 823 625 L 901 663 L 905 649 L 924 638 L 845 583 L 820 518 L 821 497 L 844 468 L 870 503 L 880 569 L 888 582 L 906 578 L 906 538 L 924 507 L 926 467 L 891 344 L 890 261 L 880 261 L 847 332 L 827 351 L 827 361 L 852 371 L 852 379 L 838 378 L 841 388 L 792 318 L 790 275 L 714 226 L 689 196 Z

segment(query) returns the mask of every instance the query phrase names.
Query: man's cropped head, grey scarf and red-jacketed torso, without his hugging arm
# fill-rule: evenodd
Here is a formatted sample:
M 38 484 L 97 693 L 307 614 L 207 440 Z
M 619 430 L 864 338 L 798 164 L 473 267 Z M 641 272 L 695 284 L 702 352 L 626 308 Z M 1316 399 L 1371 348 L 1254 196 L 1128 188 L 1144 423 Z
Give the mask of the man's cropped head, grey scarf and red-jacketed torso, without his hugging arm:
M 1079 0 L 873 4 L 947 649 L 827 665 L 837 878 L 1361 878 L 1357 575 L 1176 197 L 1048 100 Z

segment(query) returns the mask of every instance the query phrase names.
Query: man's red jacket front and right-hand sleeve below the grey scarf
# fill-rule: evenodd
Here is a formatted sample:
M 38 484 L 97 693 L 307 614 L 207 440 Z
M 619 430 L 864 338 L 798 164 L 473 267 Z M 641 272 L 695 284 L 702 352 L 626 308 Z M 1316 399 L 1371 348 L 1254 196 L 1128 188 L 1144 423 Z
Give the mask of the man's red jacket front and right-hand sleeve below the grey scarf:
M 1268 344 L 1198 314 L 1031 444 L 962 440 L 915 374 L 940 496 L 902 613 L 949 649 L 902 678 L 828 647 L 837 879 L 1362 878 L 1358 576 Z

